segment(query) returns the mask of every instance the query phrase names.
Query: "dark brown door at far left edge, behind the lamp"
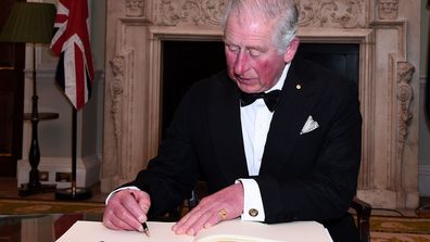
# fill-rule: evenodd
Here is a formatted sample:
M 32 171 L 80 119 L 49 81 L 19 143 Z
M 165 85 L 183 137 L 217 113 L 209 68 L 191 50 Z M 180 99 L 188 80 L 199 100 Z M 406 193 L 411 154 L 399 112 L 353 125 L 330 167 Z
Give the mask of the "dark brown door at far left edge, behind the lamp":
M 16 0 L 0 1 L 0 30 Z M 0 42 L 0 176 L 15 177 L 21 158 L 25 44 Z

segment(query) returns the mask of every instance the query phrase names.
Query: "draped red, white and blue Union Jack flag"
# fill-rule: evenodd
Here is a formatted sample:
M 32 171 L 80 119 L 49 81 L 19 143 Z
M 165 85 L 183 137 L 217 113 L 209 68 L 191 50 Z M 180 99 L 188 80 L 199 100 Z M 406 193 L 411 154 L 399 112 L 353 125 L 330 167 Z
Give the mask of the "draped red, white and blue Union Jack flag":
M 89 100 L 94 79 L 88 22 L 87 0 L 59 1 L 51 41 L 51 50 L 60 55 L 55 79 L 76 110 Z

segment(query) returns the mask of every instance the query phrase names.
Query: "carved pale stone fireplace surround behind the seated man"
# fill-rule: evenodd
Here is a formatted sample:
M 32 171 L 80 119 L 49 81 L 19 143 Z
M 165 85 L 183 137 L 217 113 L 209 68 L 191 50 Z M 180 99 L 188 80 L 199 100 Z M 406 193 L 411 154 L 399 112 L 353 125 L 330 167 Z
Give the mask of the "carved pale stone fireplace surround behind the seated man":
M 296 0 L 300 39 L 359 44 L 358 196 L 418 206 L 419 1 Z M 108 0 L 102 191 L 135 178 L 160 142 L 161 41 L 219 40 L 227 0 Z M 408 34 L 408 35 L 407 35 Z

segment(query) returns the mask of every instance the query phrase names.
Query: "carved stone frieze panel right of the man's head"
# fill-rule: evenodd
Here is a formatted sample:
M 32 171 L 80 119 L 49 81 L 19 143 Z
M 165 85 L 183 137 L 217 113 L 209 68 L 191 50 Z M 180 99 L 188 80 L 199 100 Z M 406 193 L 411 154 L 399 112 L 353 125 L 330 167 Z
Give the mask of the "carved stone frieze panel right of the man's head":
M 364 28 L 366 5 L 363 0 L 298 0 L 300 26 Z

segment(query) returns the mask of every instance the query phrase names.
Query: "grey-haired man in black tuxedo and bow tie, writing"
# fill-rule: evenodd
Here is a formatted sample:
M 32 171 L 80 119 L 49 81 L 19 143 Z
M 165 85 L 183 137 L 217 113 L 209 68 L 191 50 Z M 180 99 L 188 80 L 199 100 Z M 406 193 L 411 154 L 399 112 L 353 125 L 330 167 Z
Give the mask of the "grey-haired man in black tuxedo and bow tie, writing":
M 142 230 L 203 179 L 210 195 L 173 227 L 178 234 L 241 217 L 317 220 L 334 241 L 358 241 L 347 213 L 361 160 L 357 87 L 294 56 L 298 18 L 294 0 L 228 3 L 227 71 L 188 91 L 157 155 L 108 198 L 108 228 Z

